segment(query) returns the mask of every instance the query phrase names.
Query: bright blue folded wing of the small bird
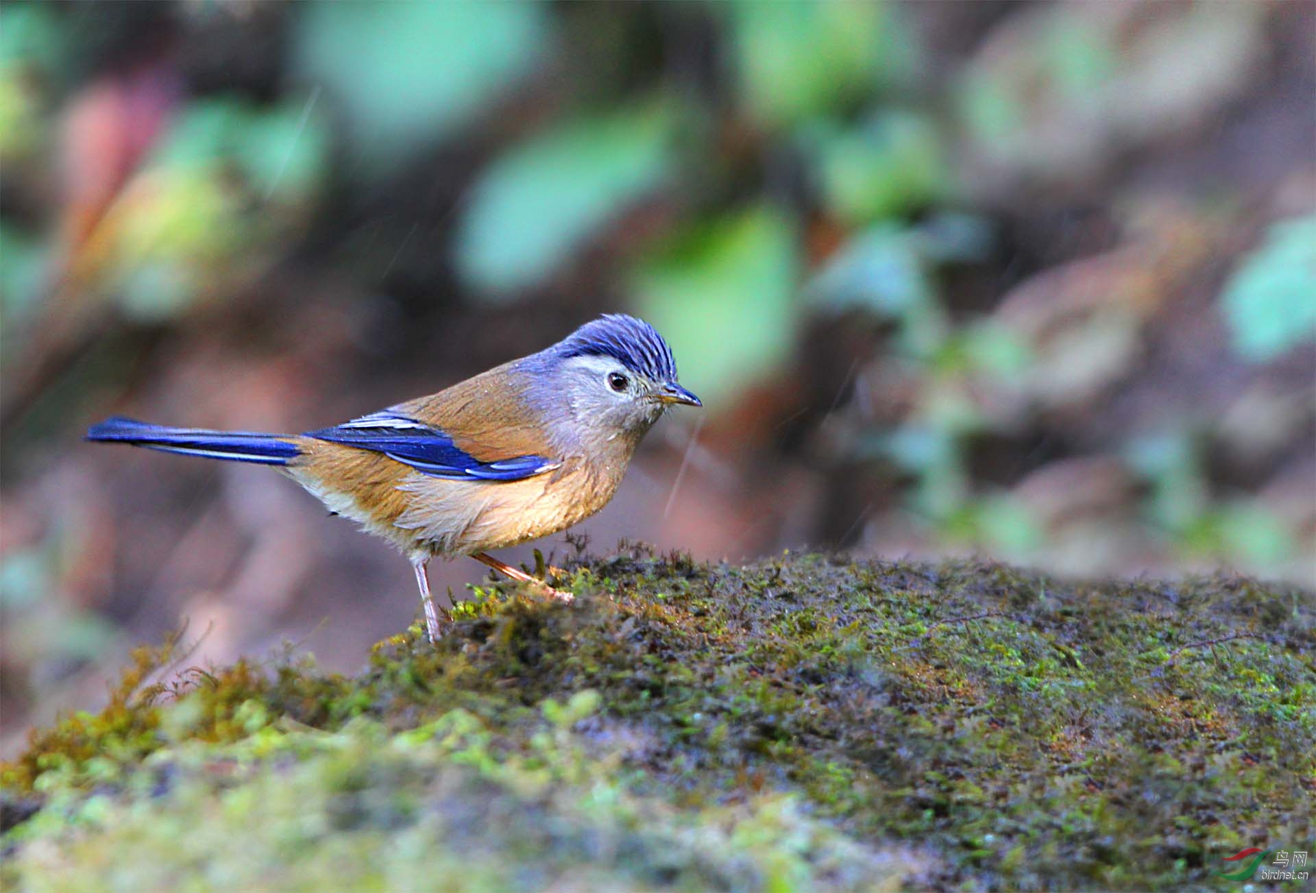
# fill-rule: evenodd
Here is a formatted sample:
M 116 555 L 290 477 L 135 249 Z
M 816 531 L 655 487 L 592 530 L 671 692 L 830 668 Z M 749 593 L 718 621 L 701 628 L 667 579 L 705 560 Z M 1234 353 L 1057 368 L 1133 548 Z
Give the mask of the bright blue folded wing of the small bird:
M 521 480 L 553 471 L 562 464 L 533 455 L 480 462 L 453 443 L 453 438 L 440 429 L 392 410 L 371 413 L 318 431 L 307 431 L 305 437 L 383 452 L 390 459 L 411 466 L 421 473 L 445 480 Z

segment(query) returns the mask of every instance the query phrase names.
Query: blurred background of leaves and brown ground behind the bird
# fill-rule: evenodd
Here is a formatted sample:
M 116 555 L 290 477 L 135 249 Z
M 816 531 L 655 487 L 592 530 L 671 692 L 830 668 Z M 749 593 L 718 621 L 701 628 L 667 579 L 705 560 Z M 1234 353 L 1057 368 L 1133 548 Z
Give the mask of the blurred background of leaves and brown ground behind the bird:
M 305 430 L 605 310 L 707 409 L 650 437 L 599 548 L 1312 585 L 1313 28 L 1266 0 L 4 4 L 4 747 L 179 615 L 205 656 L 354 667 L 415 613 L 405 564 L 292 485 L 88 422 Z

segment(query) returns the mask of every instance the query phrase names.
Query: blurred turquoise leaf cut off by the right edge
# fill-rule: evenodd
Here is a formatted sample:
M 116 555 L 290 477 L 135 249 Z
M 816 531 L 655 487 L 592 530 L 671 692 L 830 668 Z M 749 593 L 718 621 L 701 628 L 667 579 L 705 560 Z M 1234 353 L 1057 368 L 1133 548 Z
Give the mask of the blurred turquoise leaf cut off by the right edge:
M 1220 297 L 1234 352 L 1255 363 L 1316 337 L 1316 216 L 1280 221 Z

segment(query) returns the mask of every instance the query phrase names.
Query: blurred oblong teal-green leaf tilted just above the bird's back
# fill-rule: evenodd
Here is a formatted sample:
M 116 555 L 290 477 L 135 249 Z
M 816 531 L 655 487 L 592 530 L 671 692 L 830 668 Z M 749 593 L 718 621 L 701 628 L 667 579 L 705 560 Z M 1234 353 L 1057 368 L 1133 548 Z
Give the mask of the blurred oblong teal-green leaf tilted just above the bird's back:
M 670 174 L 672 124 L 663 107 L 582 118 L 496 159 L 462 218 L 462 275 L 490 300 L 509 300 L 553 274 Z

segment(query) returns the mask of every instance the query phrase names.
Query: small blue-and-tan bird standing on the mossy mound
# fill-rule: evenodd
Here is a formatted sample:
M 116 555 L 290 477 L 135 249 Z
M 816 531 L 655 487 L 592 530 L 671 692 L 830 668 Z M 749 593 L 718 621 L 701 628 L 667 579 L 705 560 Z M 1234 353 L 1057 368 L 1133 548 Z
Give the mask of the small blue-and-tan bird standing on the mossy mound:
M 111 417 L 87 439 L 278 468 L 407 556 L 437 642 L 426 575 L 434 558 L 468 555 L 570 601 L 488 551 L 607 505 L 644 435 L 676 405 L 703 402 L 678 381 L 667 342 L 647 322 L 611 313 L 537 354 L 332 427 L 262 434 Z

